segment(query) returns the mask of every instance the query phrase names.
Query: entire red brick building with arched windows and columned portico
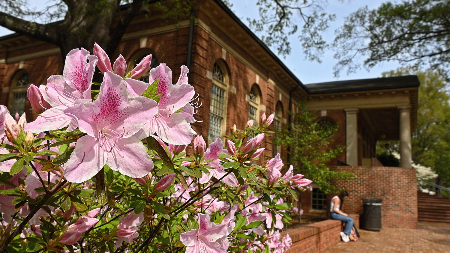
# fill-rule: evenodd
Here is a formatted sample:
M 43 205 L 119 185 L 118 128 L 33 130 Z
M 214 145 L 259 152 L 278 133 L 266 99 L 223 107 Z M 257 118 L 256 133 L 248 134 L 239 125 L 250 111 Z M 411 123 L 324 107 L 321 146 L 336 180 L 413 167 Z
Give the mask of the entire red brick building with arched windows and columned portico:
M 338 160 L 351 167 L 336 169 L 347 168 L 361 175 L 353 181 L 337 182 L 359 198 L 354 199 L 351 211 L 361 213 L 360 197 L 381 197 L 386 200 L 383 204 L 388 202 L 386 208 L 383 206 L 383 226 L 415 226 L 417 196 L 387 190 L 403 187 L 415 192 L 410 138 L 416 122 L 417 77 L 304 85 L 220 0 L 194 3 L 194 13 L 194 22 L 158 22 L 157 15 L 136 17 L 112 59 L 121 53 L 133 67 L 144 55 L 152 53 L 153 66 L 166 62 L 174 79 L 180 74 L 180 66 L 187 65 L 189 83 L 203 104 L 196 114 L 203 122 L 193 124 L 193 128 L 208 142 L 229 134 L 233 124 L 243 126 L 248 119 L 258 121 L 263 112 L 275 113 L 272 130 L 287 127 L 288 111 L 295 111 L 295 102 L 310 100 L 311 110 L 319 112 L 318 120 L 339 125 L 333 144 L 347 146 Z M 45 84 L 50 75 L 62 72 L 60 51 L 53 44 L 18 34 L 0 38 L 0 104 L 7 105 L 11 113 L 29 112 L 29 84 Z M 28 113 L 27 117 L 32 120 L 36 115 Z M 401 140 L 403 168 L 374 167 L 379 165 L 372 159 L 375 144 L 383 139 Z M 282 146 L 272 144 L 271 138 L 266 138 L 262 146 L 266 148 L 264 157 L 276 152 L 287 156 Z M 386 175 L 384 171 L 398 176 L 396 181 L 379 184 L 379 176 Z M 378 190 L 374 190 L 375 186 Z M 306 195 L 303 209 L 323 213 L 326 196 L 317 190 Z M 411 207 L 407 211 L 412 213 L 410 222 L 396 223 L 393 217 L 406 208 L 396 204 L 404 203 Z

